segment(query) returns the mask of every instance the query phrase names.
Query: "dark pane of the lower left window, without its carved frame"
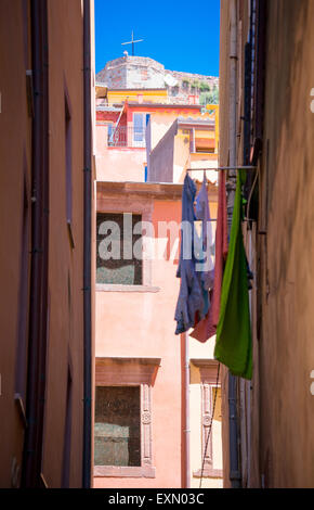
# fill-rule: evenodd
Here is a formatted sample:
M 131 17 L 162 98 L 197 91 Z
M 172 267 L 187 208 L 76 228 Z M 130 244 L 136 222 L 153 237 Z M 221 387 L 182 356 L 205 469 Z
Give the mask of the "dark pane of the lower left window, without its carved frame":
M 99 386 L 95 466 L 141 466 L 140 386 Z

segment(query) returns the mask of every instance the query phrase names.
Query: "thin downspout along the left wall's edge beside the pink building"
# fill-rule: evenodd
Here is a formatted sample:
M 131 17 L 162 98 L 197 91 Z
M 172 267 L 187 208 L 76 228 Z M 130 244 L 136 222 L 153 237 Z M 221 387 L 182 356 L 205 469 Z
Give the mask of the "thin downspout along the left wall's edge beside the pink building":
M 91 3 L 83 0 L 83 466 L 82 486 L 91 486 L 92 409 L 92 138 L 91 138 Z

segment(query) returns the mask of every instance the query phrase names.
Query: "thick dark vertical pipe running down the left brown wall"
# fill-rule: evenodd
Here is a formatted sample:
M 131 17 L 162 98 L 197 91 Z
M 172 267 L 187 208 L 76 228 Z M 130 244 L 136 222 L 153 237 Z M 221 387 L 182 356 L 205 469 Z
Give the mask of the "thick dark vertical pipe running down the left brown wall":
M 49 71 L 47 0 L 30 4 L 34 118 L 31 133 L 31 271 L 27 366 L 27 429 L 21 485 L 39 487 L 48 342 Z

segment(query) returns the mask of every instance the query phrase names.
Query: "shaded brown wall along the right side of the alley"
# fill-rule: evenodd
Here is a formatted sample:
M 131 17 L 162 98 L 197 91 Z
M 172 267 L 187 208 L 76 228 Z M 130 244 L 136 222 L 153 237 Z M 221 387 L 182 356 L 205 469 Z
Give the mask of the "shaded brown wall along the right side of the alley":
M 248 13 L 247 2 L 238 4 L 244 15 L 238 25 L 239 116 Z M 220 163 L 224 165 L 228 151 L 228 2 L 222 0 L 221 5 Z M 241 419 L 241 460 L 244 482 L 256 487 L 313 487 L 313 0 L 267 1 L 260 212 L 256 229 L 245 232 L 257 277 L 251 293 L 253 380 L 252 390 L 245 390 L 250 407 Z M 226 386 L 224 409 L 227 411 Z M 227 412 L 224 417 L 227 485 Z M 244 429 L 250 434 L 248 442 Z

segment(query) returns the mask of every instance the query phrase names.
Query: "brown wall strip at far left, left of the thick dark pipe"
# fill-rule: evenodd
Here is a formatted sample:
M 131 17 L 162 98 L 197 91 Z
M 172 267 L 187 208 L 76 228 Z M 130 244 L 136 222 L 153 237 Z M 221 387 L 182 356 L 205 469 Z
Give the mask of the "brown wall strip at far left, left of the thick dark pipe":
M 24 439 L 24 423 L 14 401 L 15 364 L 21 307 L 28 310 L 28 302 L 19 304 L 22 282 L 23 197 L 24 182 L 30 201 L 31 120 L 26 97 L 26 69 L 30 63 L 30 48 L 25 47 L 22 2 L 10 0 L 0 5 L 0 486 L 18 484 Z M 13 37 L 14 35 L 14 37 Z M 28 51 L 27 51 L 28 50 Z M 26 54 L 25 54 L 26 51 Z M 13 65 L 14 64 L 14 65 Z M 30 226 L 28 208 L 26 222 Z M 26 250 L 30 250 L 27 243 Z M 29 270 L 29 263 L 26 267 Z M 28 286 L 28 285 L 27 285 Z M 26 313 L 26 316 L 28 314 Z M 25 327 L 27 328 L 28 320 Z M 26 360 L 24 360 L 26 364 Z

